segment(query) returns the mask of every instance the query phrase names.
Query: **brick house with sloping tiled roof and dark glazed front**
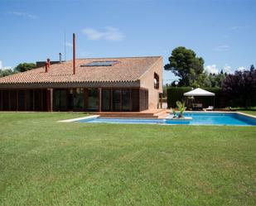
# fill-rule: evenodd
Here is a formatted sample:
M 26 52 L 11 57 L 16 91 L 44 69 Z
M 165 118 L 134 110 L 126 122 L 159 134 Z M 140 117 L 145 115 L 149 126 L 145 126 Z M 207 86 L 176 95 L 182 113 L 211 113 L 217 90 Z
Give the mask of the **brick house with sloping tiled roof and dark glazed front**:
M 161 56 L 49 60 L 0 78 L 1 111 L 140 112 L 160 108 L 159 97 Z

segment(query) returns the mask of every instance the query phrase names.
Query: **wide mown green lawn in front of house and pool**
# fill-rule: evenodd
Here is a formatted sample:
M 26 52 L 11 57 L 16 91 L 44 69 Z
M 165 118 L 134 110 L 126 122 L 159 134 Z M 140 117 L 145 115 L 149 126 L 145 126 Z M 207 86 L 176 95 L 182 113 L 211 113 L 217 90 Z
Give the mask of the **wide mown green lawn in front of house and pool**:
M 256 205 L 256 127 L 0 113 L 1 205 Z

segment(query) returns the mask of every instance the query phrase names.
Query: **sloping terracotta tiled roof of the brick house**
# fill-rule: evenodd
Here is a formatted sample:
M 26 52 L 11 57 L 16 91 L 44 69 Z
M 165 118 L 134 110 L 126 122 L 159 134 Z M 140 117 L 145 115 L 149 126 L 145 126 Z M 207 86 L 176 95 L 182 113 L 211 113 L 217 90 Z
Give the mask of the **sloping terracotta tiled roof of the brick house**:
M 12 74 L 0 78 L 0 84 L 34 84 L 34 83 L 84 83 L 84 82 L 130 82 L 140 79 L 152 67 L 160 56 L 77 59 L 75 75 L 72 60 L 51 65 L 46 73 L 45 67 L 27 72 Z M 81 67 L 93 61 L 117 60 L 112 66 Z

